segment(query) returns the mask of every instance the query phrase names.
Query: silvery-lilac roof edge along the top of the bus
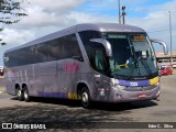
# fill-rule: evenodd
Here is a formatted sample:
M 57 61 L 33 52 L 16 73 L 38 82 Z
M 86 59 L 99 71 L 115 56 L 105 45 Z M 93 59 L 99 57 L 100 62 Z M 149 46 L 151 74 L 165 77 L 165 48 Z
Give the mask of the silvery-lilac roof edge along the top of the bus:
M 4 53 L 14 51 L 14 50 L 19 50 L 19 48 L 23 48 L 30 45 L 35 45 L 38 43 L 43 43 L 46 41 L 51 41 L 64 35 L 68 35 L 72 33 L 76 33 L 76 32 L 81 32 L 81 31 L 100 31 L 100 32 L 125 32 L 125 33 L 133 33 L 133 32 L 145 32 L 143 29 L 138 28 L 138 26 L 132 26 L 132 25 L 124 25 L 124 24 L 117 24 L 117 23 L 84 23 L 84 24 L 77 24 L 70 28 L 67 28 L 65 30 L 61 30 L 57 31 L 55 33 L 45 35 L 43 37 L 36 38 L 34 41 L 31 41 L 26 44 L 23 44 L 21 46 L 11 48 L 6 51 Z

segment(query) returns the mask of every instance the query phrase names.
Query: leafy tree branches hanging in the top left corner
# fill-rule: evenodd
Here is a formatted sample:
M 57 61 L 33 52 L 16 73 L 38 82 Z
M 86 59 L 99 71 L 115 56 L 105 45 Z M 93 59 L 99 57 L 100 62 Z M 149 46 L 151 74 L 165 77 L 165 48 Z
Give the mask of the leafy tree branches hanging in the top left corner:
M 0 0 L 0 23 L 2 24 L 14 24 L 20 21 L 21 16 L 26 16 L 28 14 L 22 9 L 22 1 L 16 0 Z M 3 31 L 3 28 L 0 28 L 0 32 Z M 0 44 L 6 45 L 0 38 Z

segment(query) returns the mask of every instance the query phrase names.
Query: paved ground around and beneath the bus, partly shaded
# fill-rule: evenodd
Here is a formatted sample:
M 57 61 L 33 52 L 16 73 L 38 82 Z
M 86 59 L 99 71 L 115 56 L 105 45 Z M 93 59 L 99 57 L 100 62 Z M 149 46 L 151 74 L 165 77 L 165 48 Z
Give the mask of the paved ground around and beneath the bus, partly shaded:
M 0 84 L 1 90 L 3 90 L 3 78 L 0 79 Z M 15 97 L 0 94 L 0 122 L 148 122 L 151 127 L 153 123 L 162 122 L 176 128 L 176 70 L 174 75 L 162 76 L 161 85 L 160 100 L 117 105 L 95 103 L 90 110 L 81 108 L 79 101 L 33 98 L 31 102 L 26 103 L 18 101 Z M 67 124 L 65 123 L 65 125 Z M 97 123 L 91 124 L 87 129 L 96 129 L 96 125 Z M 142 124 L 139 123 L 139 125 Z M 162 128 L 155 128 L 155 131 L 175 131 L 172 128 L 163 129 L 163 124 L 161 125 Z M 75 128 L 78 127 L 77 123 Z M 108 131 L 108 129 L 116 131 L 112 125 L 108 128 L 102 124 L 102 129 L 105 129 L 103 131 Z M 153 128 L 144 129 L 144 131 L 150 131 Z M 102 130 L 99 128 L 96 131 Z M 132 130 L 127 129 L 127 131 L 131 132 Z M 133 131 L 141 132 L 141 130 Z

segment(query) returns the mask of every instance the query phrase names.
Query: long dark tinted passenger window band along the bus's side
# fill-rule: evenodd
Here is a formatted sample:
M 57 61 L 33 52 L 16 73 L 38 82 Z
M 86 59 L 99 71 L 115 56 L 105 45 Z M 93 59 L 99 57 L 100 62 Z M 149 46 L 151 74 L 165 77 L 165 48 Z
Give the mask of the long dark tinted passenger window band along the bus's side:
M 82 61 L 76 35 L 67 35 L 6 54 L 6 66 L 20 66 L 64 58 Z

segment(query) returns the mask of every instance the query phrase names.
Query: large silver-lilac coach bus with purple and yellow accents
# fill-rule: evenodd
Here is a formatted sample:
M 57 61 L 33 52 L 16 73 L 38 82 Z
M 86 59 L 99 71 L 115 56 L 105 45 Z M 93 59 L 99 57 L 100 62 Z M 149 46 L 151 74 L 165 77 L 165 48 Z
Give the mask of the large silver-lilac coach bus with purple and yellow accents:
M 129 102 L 160 96 L 158 67 L 152 42 L 136 26 L 78 24 L 4 53 L 7 91 L 19 100 L 52 97 Z

